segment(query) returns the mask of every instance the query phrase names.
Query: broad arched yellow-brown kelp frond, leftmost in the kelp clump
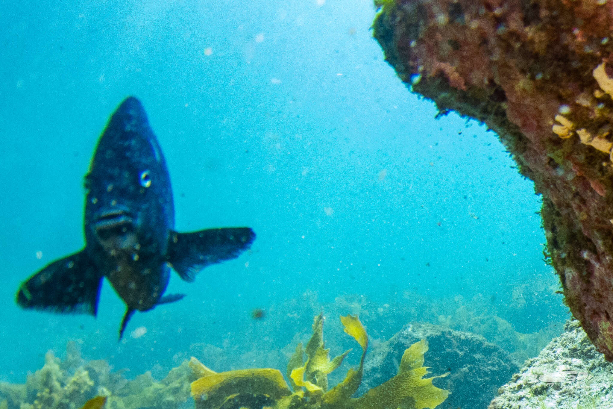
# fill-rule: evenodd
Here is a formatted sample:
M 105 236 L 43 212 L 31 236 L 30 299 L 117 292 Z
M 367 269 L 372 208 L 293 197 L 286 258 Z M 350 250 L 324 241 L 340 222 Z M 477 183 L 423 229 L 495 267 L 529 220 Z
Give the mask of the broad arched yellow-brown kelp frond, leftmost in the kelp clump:
M 238 395 L 265 396 L 272 400 L 291 395 L 276 369 L 241 369 L 212 373 L 192 382 L 197 409 L 218 409 Z

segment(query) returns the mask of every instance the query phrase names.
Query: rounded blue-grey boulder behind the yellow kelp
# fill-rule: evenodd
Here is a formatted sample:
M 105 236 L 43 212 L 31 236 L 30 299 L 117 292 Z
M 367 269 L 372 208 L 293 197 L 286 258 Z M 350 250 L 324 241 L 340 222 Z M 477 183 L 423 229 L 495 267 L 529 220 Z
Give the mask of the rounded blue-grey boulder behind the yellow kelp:
M 364 380 L 358 393 L 395 375 L 403 352 L 421 339 L 430 345 L 425 354 L 430 370 L 451 372 L 435 381 L 440 388 L 451 391 L 445 407 L 486 408 L 498 388 L 519 369 L 508 353 L 485 338 L 438 325 L 413 323 L 373 348 L 364 363 Z

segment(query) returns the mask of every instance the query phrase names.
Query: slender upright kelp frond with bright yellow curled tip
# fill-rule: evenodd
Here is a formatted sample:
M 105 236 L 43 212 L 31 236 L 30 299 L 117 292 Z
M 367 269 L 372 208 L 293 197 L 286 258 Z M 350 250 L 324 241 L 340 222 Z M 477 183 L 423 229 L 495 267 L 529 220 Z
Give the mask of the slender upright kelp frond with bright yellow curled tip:
M 357 315 L 341 316 L 341 323 L 345 327 L 345 332 L 355 338 L 357 343 L 362 346 L 362 357 L 360 358 L 360 366 L 357 370 L 349 369 L 345 380 L 337 384 L 329 392 L 324 395 L 324 402 L 333 405 L 337 402 L 349 400 L 356 393 L 362 383 L 362 374 L 364 373 L 364 357 L 368 349 L 368 335 L 366 330 Z

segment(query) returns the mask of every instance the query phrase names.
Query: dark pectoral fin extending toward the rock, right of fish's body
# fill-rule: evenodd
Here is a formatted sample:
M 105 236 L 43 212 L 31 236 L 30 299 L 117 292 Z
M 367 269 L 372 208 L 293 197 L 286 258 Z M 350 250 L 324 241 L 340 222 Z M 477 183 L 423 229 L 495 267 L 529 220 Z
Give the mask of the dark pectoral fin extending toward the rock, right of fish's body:
M 249 227 L 225 227 L 191 233 L 170 232 L 167 262 L 191 282 L 210 264 L 237 258 L 251 247 L 256 234 Z

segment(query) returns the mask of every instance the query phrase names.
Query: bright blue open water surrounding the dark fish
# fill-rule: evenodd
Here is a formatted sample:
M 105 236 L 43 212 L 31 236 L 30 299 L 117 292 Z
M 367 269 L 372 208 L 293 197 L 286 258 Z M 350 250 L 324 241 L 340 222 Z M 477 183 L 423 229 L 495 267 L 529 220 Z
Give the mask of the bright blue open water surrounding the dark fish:
M 333 354 L 354 346 L 338 331 L 348 313 L 373 340 L 429 321 L 524 358 L 561 332 L 533 183 L 493 132 L 409 93 L 374 16 L 370 0 L 5 4 L 0 381 L 23 383 L 69 340 L 127 377 L 191 355 L 283 367 L 321 310 Z M 185 299 L 137 313 L 118 343 L 107 281 L 97 318 L 23 311 L 15 292 L 83 247 L 83 175 L 128 95 L 166 156 L 177 230 L 257 238 L 195 283 L 173 273 L 167 292 Z

